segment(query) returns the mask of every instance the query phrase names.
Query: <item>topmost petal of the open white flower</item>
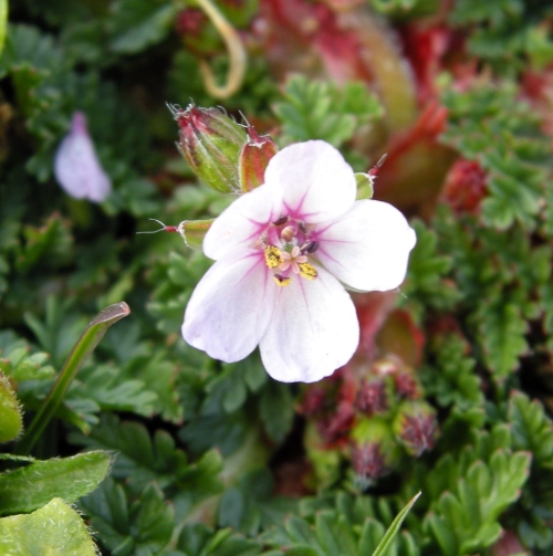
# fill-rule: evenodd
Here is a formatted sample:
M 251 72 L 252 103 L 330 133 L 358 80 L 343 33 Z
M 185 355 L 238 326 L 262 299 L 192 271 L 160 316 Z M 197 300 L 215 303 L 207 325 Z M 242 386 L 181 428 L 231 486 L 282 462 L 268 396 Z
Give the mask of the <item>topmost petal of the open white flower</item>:
M 281 189 L 290 214 L 310 223 L 342 216 L 355 201 L 357 189 L 352 167 L 321 140 L 276 153 L 265 170 L 265 186 Z

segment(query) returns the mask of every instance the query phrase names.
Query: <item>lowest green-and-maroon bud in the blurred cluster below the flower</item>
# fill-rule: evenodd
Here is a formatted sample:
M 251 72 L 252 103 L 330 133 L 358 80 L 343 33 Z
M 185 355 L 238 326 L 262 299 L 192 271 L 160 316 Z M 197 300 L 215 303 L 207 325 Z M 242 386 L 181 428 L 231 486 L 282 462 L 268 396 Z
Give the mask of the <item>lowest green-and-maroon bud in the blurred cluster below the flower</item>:
M 394 470 L 399 461 L 399 447 L 384 420 L 361 419 L 351 437 L 352 465 L 357 475 L 379 479 Z

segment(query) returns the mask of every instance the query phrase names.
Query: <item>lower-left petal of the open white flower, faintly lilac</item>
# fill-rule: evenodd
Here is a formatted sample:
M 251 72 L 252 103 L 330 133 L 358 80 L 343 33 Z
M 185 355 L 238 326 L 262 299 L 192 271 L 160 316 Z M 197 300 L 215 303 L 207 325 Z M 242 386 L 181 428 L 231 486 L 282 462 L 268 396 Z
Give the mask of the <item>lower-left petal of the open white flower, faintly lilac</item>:
M 186 307 L 182 336 L 215 359 L 243 359 L 267 331 L 274 298 L 275 284 L 262 252 L 236 249 L 196 286 Z

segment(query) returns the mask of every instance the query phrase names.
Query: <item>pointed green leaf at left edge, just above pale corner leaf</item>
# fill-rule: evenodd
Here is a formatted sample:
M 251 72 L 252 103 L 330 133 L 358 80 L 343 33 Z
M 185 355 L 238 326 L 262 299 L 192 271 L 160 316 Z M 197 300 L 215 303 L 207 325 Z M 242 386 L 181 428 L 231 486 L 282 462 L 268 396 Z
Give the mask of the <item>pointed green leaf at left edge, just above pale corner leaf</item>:
M 34 461 L 0 474 L 0 515 L 32 512 L 54 497 L 74 502 L 88 494 L 109 471 L 112 457 L 88 452 L 73 458 Z

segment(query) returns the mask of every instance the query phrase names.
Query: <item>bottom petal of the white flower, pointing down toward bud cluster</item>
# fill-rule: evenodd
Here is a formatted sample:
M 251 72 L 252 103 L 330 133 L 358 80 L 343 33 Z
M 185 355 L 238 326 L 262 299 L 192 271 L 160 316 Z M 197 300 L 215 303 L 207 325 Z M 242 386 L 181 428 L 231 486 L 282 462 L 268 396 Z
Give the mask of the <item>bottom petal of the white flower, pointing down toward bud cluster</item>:
M 316 280 L 293 279 L 279 290 L 278 311 L 261 338 L 263 366 L 282 382 L 314 382 L 332 375 L 359 343 L 355 306 L 323 269 Z

